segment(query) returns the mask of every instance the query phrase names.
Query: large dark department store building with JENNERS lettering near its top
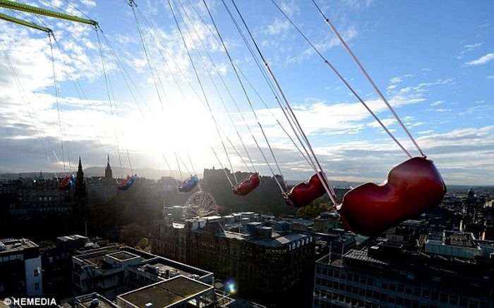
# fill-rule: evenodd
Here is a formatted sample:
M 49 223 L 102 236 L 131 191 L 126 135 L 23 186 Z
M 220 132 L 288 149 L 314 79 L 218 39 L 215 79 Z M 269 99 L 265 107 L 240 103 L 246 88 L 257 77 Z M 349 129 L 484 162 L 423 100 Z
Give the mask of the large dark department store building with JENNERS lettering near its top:
M 287 307 L 294 302 L 309 307 L 313 236 L 273 230 L 259 221 L 246 222 L 241 214 L 234 217 L 241 222 L 231 230 L 206 219 L 157 221 L 151 237 L 153 252 L 212 271 L 232 293 L 267 307 Z

